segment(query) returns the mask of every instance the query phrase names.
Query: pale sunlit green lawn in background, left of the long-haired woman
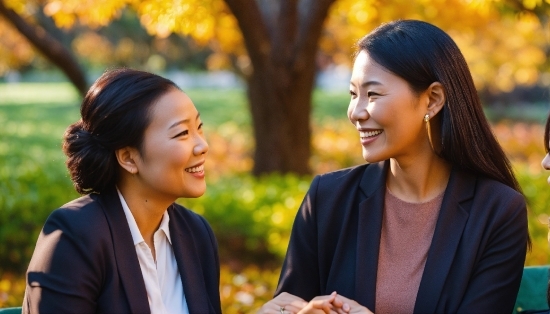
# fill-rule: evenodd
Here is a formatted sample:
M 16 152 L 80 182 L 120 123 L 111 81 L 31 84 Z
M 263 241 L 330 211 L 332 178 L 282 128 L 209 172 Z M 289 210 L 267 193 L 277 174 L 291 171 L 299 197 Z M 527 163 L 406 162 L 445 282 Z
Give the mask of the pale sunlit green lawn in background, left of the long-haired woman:
M 205 127 L 216 128 L 233 122 L 249 131 L 251 117 L 243 90 L 189 89 L 185 92 L 200 111 Z M 0 83 L 0 123 L 4 125 L 0 135 L 24 138 L 26 144 L 59 144 L 65 128 L 80 118 L 80 101 L 69 83 Z M 314 91 L 313 121 L 347 119 L 348 103 L 347 91 Z M 5 149 L 0 146 L 0 152 Z

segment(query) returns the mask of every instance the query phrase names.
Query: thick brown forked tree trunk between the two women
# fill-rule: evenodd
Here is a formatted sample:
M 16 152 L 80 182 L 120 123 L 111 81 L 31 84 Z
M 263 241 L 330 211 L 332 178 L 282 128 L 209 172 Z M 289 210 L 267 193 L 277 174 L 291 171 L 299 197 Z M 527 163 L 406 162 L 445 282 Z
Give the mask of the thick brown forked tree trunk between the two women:
M 253 66 L 247 91 L 256 141 L 255 175 L 310 173 L 315 55 L 334 1 L 281 0 L 274 8 L 273 0 L 225 0 Z

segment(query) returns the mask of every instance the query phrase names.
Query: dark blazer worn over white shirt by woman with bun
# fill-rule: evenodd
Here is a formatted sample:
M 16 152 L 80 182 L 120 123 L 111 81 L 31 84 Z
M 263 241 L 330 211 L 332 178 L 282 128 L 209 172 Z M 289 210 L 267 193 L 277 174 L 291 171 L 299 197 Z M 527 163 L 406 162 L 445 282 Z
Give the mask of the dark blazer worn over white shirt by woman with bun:
M 177 204 L 168 214 L 189 313 L 221 313 L 210 226 Z M 150 313 L 116 189 L 83 196 L 48 217 L 27 270 L 23 313 Z

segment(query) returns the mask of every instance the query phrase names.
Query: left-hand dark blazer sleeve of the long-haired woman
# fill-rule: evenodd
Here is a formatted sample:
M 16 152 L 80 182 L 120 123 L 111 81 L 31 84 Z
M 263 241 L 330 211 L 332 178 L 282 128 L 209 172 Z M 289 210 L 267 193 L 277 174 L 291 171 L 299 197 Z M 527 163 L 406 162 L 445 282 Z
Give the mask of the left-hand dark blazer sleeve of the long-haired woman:
M 313 179 L 294 220 L 275 296 L 287 292 L 309 301 L 321 294 L 316 221 L 319 180 L 319 176 Z

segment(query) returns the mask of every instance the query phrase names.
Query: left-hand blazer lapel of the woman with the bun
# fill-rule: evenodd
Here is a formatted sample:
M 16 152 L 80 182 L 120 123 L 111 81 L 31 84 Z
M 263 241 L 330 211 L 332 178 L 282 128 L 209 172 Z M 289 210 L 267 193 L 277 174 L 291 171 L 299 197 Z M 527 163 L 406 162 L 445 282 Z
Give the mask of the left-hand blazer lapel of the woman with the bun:
M 111 229 L 117 268 L 130 304 L 130 311 L 151 313 L 136 248 L 118 193 L 116 189 L 111 189 L 99 195 L 99 198 L 104 205 L 103 211 Z

